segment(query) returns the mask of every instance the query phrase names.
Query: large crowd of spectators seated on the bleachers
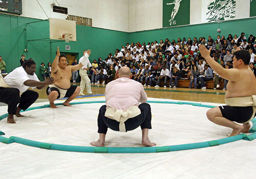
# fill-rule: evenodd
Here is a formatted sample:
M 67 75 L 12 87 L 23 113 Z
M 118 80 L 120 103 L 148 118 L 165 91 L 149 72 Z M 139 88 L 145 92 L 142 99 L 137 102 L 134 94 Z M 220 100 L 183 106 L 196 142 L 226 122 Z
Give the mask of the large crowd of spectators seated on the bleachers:
M 218 35 L 216 40 L 208 36 L 207 40 L 205 37 L 194 37 L 193 40 L 184 37 L 172 42 L 166 38 L 159 42 L 126 43 L 125 47 L 116 49 L 115 54 L 110 53 L 105 60 L 95 59 L 92 68 L 97 73 L 90 69 L 89 76 L 92 83 L 99 84 L 103 79 L 102 84 L 106 84 L 117 78 L 121 66 L 129 66 L 132 79 L 144 86 L 159 87 L 163 81 L 164 87 L 177 87 L 179 79 L 187 79 L 190 80 L 189 88 L 194 83 L 195 88 L 205 89 L 205 81 L 214 80 L 214 89 L 219 88 L 219 82 L 223 81 L 225 90 L 227 80 L 212 71 L 200 54 L 199 44 L 211 48 L 211 57 L 227 69 L 232 68 L 234 52 L 248 50 L 251 55 L 249 66 L 256 76 L 255 37 L 250 35 L 247 40 L 245 33 L 239 37 L 229 34 L 227 38 Z

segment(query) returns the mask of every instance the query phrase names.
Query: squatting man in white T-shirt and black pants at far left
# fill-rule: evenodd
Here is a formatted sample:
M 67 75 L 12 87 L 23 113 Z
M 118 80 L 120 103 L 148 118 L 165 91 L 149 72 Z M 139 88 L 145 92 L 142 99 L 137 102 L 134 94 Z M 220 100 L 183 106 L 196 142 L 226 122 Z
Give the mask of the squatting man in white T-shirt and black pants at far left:
M 33 60 L 26 60 L 20 66 L 10 72 L 5 78 L 0 75 L 0 102 L 8 104 L 7 123 L 15 123 L 14 115 L 24 117 L 19 112 L 26 110 L 38 98 L 38 93 L 28 90 L 41 89 L 54 83 L 54 78 L 48 78 L 40 82 L 35 74 L 36 64 Z M 17 107 L 17 104 L 18 107 Z

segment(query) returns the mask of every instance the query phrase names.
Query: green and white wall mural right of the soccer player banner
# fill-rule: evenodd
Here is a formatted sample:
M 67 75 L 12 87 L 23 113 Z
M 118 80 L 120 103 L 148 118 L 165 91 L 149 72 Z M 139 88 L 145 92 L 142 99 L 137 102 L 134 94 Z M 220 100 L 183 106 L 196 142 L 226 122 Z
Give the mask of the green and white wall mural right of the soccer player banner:
M 235 0 L 212 0 L 207 6 L 206 20 L 220 21 L 236 17 Z

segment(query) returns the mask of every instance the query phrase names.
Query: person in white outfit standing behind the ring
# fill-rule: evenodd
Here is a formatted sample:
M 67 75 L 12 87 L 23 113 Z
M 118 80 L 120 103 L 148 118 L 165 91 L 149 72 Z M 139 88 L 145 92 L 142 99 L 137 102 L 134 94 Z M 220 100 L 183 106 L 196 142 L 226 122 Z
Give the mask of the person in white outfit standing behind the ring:
M 92 64 L 89 61 L 89 55 L 86 53 L 87 51 L 83 51 L 83 56 L 79 59 L 79 63 L 83 60 L 83 58 L 86 58 L 86 64 L 83 65 L 83 67 L 79 70 L 79 75 L 81 76 L 81 82 L 80 82 L 80 88 L 81 91 L 79 93 L 79 96 L 83 96 L 83 90 L 86 87 L 87 93 L 90 95 L 93 94 L 92 89 L 91 89 L 91 80 L 89 79 L 87 75 L 87 71 L 90 69 Z M 94 70 L 94 69 L 93 69 Z

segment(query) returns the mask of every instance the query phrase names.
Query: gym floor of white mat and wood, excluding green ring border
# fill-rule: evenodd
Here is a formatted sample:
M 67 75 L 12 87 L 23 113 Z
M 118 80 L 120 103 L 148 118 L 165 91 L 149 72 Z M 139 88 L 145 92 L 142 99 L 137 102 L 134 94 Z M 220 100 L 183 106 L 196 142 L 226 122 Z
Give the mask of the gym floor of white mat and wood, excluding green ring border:
M 104 85 L 93 85 L 94 95 L 74 102 L 104 100 Z M 36 90 L 38 91 L 38 90 Z M 151 101 L 224 103 L 225 92 L 212 89 L 146 87 Z M 33 106 L 48 104 L 45 89 L 38 91 Z M 84 92 L 86 94 L 86 92 Z M 56 101 L 60 103 L 62 101 Z M 187 144 L 227 137 L 231 129 L 206 119 L 208 108 L 192 105 L 150 103 L 150 139 L 157 146 Z M 25 111 L 16 124 L 0 121 L 4 137 L 65 145 L 90 146 L 97 140 L 97 115 L 103 103 L 58 105 Z M 7 106 L 0 106 L 1 115 Z M 141 129 L 127 133 L 108 130 L 106 147 L 142 147 Z M 0 143 L 0 178 L 254 178 L 256 140 L 240 140 L 214 147 L 160 153 L 80 153 L 47 150 L 18 143 Z

